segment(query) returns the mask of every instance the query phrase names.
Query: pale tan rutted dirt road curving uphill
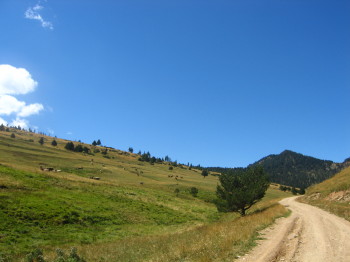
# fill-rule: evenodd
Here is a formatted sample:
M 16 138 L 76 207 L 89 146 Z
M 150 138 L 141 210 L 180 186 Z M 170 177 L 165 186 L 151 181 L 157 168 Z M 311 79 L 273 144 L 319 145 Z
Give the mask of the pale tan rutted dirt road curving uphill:
M 295 198 L 280 201 L 292 214 L 262 231 L 264 240 L 237 261 L 350 261 L 350 222 Z

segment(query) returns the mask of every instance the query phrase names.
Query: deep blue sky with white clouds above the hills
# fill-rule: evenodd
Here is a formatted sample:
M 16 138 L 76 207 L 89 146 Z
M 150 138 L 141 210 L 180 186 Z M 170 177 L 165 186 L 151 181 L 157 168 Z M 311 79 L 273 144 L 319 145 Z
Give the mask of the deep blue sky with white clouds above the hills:
M 341 162 L 349 14 L 349 1 L 1 0 L 0 121 L 204 166 L 284 149 Z

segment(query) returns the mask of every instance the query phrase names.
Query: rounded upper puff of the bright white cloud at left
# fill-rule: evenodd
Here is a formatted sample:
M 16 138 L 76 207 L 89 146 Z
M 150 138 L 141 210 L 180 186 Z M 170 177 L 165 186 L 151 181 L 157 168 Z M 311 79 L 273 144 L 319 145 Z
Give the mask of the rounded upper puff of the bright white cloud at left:
M 27 94 L 35 90 L 38 82 L 24 68 L 0 65 L 0 95 Z

